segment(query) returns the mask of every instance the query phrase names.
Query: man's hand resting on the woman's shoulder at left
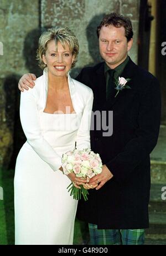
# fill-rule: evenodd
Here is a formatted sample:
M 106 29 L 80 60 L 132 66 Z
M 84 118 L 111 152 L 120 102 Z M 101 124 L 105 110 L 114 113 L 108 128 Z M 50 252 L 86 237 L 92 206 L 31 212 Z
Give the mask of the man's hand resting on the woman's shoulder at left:
M 29 90 L 29 87 L 33 88 L 35 85 L 34 80 L 36 79 L 37 77 L 32 73 L 24 74 L 18 82 L 19 90 L 23 92 L 24 89 Z

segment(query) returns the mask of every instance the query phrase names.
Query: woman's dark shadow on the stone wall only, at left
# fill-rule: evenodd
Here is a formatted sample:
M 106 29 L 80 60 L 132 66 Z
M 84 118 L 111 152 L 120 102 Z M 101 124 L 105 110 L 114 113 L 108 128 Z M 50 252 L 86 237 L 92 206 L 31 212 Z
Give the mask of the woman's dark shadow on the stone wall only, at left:
M 29 73 L 35 73 L 35 75 L 42 75 L 42 70 L 38 67 L 38 61 L 36 60 L 36 52 L 38 48 L 38 40 L 40 37 L 40 29 L 33 29 L 30 31 L 24 40 L 24 48 L 23 48 L 23 58 L 25 59 L 25 67 L 27 68 Z M 20 74 L 23 75 L 23 74 Z M 20 76 L 12 74 L 11 76 L 6 78 L 6 82 L 4 83 L 4 91 L 6 92 L 6 115 L 11 116 L 9 119 L 8 127 L 13 122 L 13 154 L 11 157 L 11 162 L 9 164 L 9 168 L 15 168 L 15 160 L 17 158 L 18 152 L 22 145 L 25 142 L 25 136 L 22 130 L 22 126 L 20 124 L 19 117 L 19 103 L 20 103 L 20 91 L 18 90 L 18 81 Z M 8 88 L 13 85 L 13 96 L 15 100 L 10 99 L 8 96 Z M 9 105 L 13 105 L 12 107 L 8 107 Z M 11 111 L 12 109 L 12 111 Z M 13 112 L 13 114 L 12 114 Z M 12 132 L 12 131 L 11 131 Z

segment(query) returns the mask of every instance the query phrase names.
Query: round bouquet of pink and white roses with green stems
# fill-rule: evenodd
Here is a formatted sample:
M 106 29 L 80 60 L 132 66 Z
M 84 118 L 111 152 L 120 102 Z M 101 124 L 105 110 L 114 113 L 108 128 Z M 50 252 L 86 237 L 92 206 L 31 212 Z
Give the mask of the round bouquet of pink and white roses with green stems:
M 62 166 L 64 174 L 68 175 L 69 173 L 74 172 L 79 178 L 89 177 L 91 179 L 102 171 L 100 155 L 95 154 L 90 149 L 74 149 L 66 152 L 62 156 Z M 81 199 L 82 194 L 86 201 L 89 193 L 83 185 L 80 185 L 80 187 L 81 189 L 78 189 L 71 183 L 67 189 L 69 189 L 68 191 L 70 191 L 70 195 L 72 195 L 74 199 Z

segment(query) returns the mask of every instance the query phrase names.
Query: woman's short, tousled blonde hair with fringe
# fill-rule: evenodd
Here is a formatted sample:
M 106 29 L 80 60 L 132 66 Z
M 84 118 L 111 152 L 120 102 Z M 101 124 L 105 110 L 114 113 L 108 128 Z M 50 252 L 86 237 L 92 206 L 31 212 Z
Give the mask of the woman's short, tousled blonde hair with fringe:
M 44 69 L 46 64 L 43 62 L 43 55 L 45 55 L 48 43 L 54 40 L 55 47 L 57 50 L 58 42 L 65 48 L 65 43 L 68 43 L 70 52 L 75 56 L 72 62 L 71 68 L 75 66 L 77 62 L 77 56 L 79 54 L 79 41 L 77 40 L 74 33 L 68 27 L 48 28 L 47 31 L 43 32 L 39 38 L 39 47 L 37 50 L 37 60 L 39 61 L 39 67 Z

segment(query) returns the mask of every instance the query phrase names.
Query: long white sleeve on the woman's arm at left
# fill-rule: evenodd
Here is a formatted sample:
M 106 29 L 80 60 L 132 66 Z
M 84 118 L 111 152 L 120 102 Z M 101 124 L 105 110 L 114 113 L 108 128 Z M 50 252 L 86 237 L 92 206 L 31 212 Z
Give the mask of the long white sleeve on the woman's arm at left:
M 51 169 L 56 171 L 61 166 L 61 157 L 42 136 L 37 99 L 35 88 L 21 93 L 20 121 L 29 145 L 50 165 Z

